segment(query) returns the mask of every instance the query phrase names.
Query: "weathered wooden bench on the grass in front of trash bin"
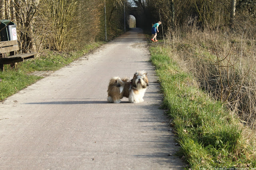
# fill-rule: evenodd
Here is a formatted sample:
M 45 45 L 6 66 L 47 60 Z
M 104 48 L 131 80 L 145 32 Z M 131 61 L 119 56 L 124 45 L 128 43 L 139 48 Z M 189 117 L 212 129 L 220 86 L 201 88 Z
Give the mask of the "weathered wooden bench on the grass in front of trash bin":
M 15 64 L 24 61 L 24 59 L 32 59 L 37 53 L 16 54 L 19 50 L 18 41 L 0 41 L 0 70 L 4 70 L 4 64 Z M 4 57 L 4 53 L 9 53 L 10 56 Z

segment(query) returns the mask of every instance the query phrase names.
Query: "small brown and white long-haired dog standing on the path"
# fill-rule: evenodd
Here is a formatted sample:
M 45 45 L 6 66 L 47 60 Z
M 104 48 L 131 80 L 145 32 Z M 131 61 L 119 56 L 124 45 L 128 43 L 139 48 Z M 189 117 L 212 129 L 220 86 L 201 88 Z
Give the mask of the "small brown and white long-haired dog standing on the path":
M 147 86 L 148 77 L 144 70 L 137 71 L 132 80 L 113 77 L 108 85 L 108 102 L 120 103 L 123 97 L 128 98 L 130 103 L 143 102 Z

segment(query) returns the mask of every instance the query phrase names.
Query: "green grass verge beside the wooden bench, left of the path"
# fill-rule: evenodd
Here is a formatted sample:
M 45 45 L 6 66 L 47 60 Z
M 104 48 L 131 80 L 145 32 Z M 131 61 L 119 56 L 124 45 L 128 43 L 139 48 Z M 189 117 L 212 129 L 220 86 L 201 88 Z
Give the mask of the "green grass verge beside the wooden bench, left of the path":
M 92 49 L 99 47 L 103 43 L 104 42 L 92 43 L 86 45 L 84 49 L 80 51 L 67 53 L 44 51 L 44 54 L 40 57 L 18 63 L 15 69 L 10 68 L 10 65 L 5 65 L 5 71 L 0 71 L 0 78 L 2 78 L 2 82 L 0 82 L 0 101 L 42 78 L 39 76 L 28 75 L 28 73 L 42 70 L 58 70 L 79 57 L 82 57 Z

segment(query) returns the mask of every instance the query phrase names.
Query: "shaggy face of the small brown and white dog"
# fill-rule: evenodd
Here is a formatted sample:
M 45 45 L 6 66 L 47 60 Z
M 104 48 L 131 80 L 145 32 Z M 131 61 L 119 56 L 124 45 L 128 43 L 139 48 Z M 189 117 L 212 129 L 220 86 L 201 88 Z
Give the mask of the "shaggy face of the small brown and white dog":
M 132 78 L 132 86 L 136 88 L 147 88 L 148 76 L 146 71 L 138 71 Z

